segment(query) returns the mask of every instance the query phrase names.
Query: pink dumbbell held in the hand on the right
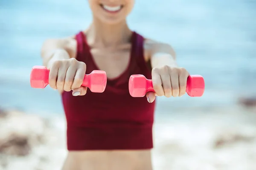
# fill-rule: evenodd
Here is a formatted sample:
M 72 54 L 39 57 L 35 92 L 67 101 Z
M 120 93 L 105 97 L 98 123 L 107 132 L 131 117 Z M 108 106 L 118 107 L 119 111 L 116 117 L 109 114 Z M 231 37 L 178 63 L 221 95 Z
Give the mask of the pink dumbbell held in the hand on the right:
M 129 92 L 133 97 L 143 97 L 148 92 L 155 92 L 151 79 L 141 74 L 131 75 Z M 191 97 L 200 97 L 204 94 L 204 78 L 200 75 L 190 75 L 187 79 L 186 93 Z

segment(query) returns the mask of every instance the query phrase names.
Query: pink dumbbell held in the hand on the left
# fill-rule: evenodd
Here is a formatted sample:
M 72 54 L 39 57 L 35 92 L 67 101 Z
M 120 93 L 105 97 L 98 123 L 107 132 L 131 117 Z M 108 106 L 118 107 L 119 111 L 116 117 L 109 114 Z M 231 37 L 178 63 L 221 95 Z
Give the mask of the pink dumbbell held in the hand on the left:
M 30 73 L 30 85 L 32 88 L 45 88 L 49 84 L 49 70 L 44 66 L 34 66 Z M 94 70 L 90 74 L 85 74 L 84 82 L 81 86 L 90 88 L 90 91 L 102 93 L 107 85 L 107 75 L 105 71 Z

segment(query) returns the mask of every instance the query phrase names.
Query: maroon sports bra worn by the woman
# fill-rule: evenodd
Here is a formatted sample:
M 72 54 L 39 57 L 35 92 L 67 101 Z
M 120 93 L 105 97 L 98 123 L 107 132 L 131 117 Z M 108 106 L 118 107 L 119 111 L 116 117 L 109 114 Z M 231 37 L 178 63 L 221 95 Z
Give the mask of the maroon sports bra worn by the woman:
M 87 65 L 86 74 L 98 70 L 83 32 L 76 35 L 78 61 Z M 151 79 L 149 62 L 143 55 L 144 38 L 133 32 L 128 68 L 117 78 L 108 79 L 103 93 L 73 96 L 64 91 L 62 102 L 67 119 L 68 150 L 150 149 L 155 102 L 131 97 L 129 77 L 143 74 Z

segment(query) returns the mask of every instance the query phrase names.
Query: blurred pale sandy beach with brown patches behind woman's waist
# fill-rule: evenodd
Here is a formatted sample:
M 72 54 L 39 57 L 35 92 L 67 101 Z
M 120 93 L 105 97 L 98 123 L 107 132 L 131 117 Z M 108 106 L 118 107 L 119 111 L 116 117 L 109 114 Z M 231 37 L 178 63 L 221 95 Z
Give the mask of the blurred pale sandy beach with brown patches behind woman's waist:
M 154 170 L 256 170 L 255 110 L 189 110 L 156 118 Z M 60 170 L 67 154 L 63 115 L 0 115 L 0 170 Z

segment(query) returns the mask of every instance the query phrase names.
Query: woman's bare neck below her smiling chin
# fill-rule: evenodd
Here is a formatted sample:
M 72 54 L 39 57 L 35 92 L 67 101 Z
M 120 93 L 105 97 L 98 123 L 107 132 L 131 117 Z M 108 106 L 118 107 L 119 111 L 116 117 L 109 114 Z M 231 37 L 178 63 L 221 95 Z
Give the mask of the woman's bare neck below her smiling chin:
M 126 20 L 116 24 L 106 24 L 95 17 L 86 31 L 88 43 L 103 47 L 130 42 L 131 34 L 132 31 L 128 28 Z

